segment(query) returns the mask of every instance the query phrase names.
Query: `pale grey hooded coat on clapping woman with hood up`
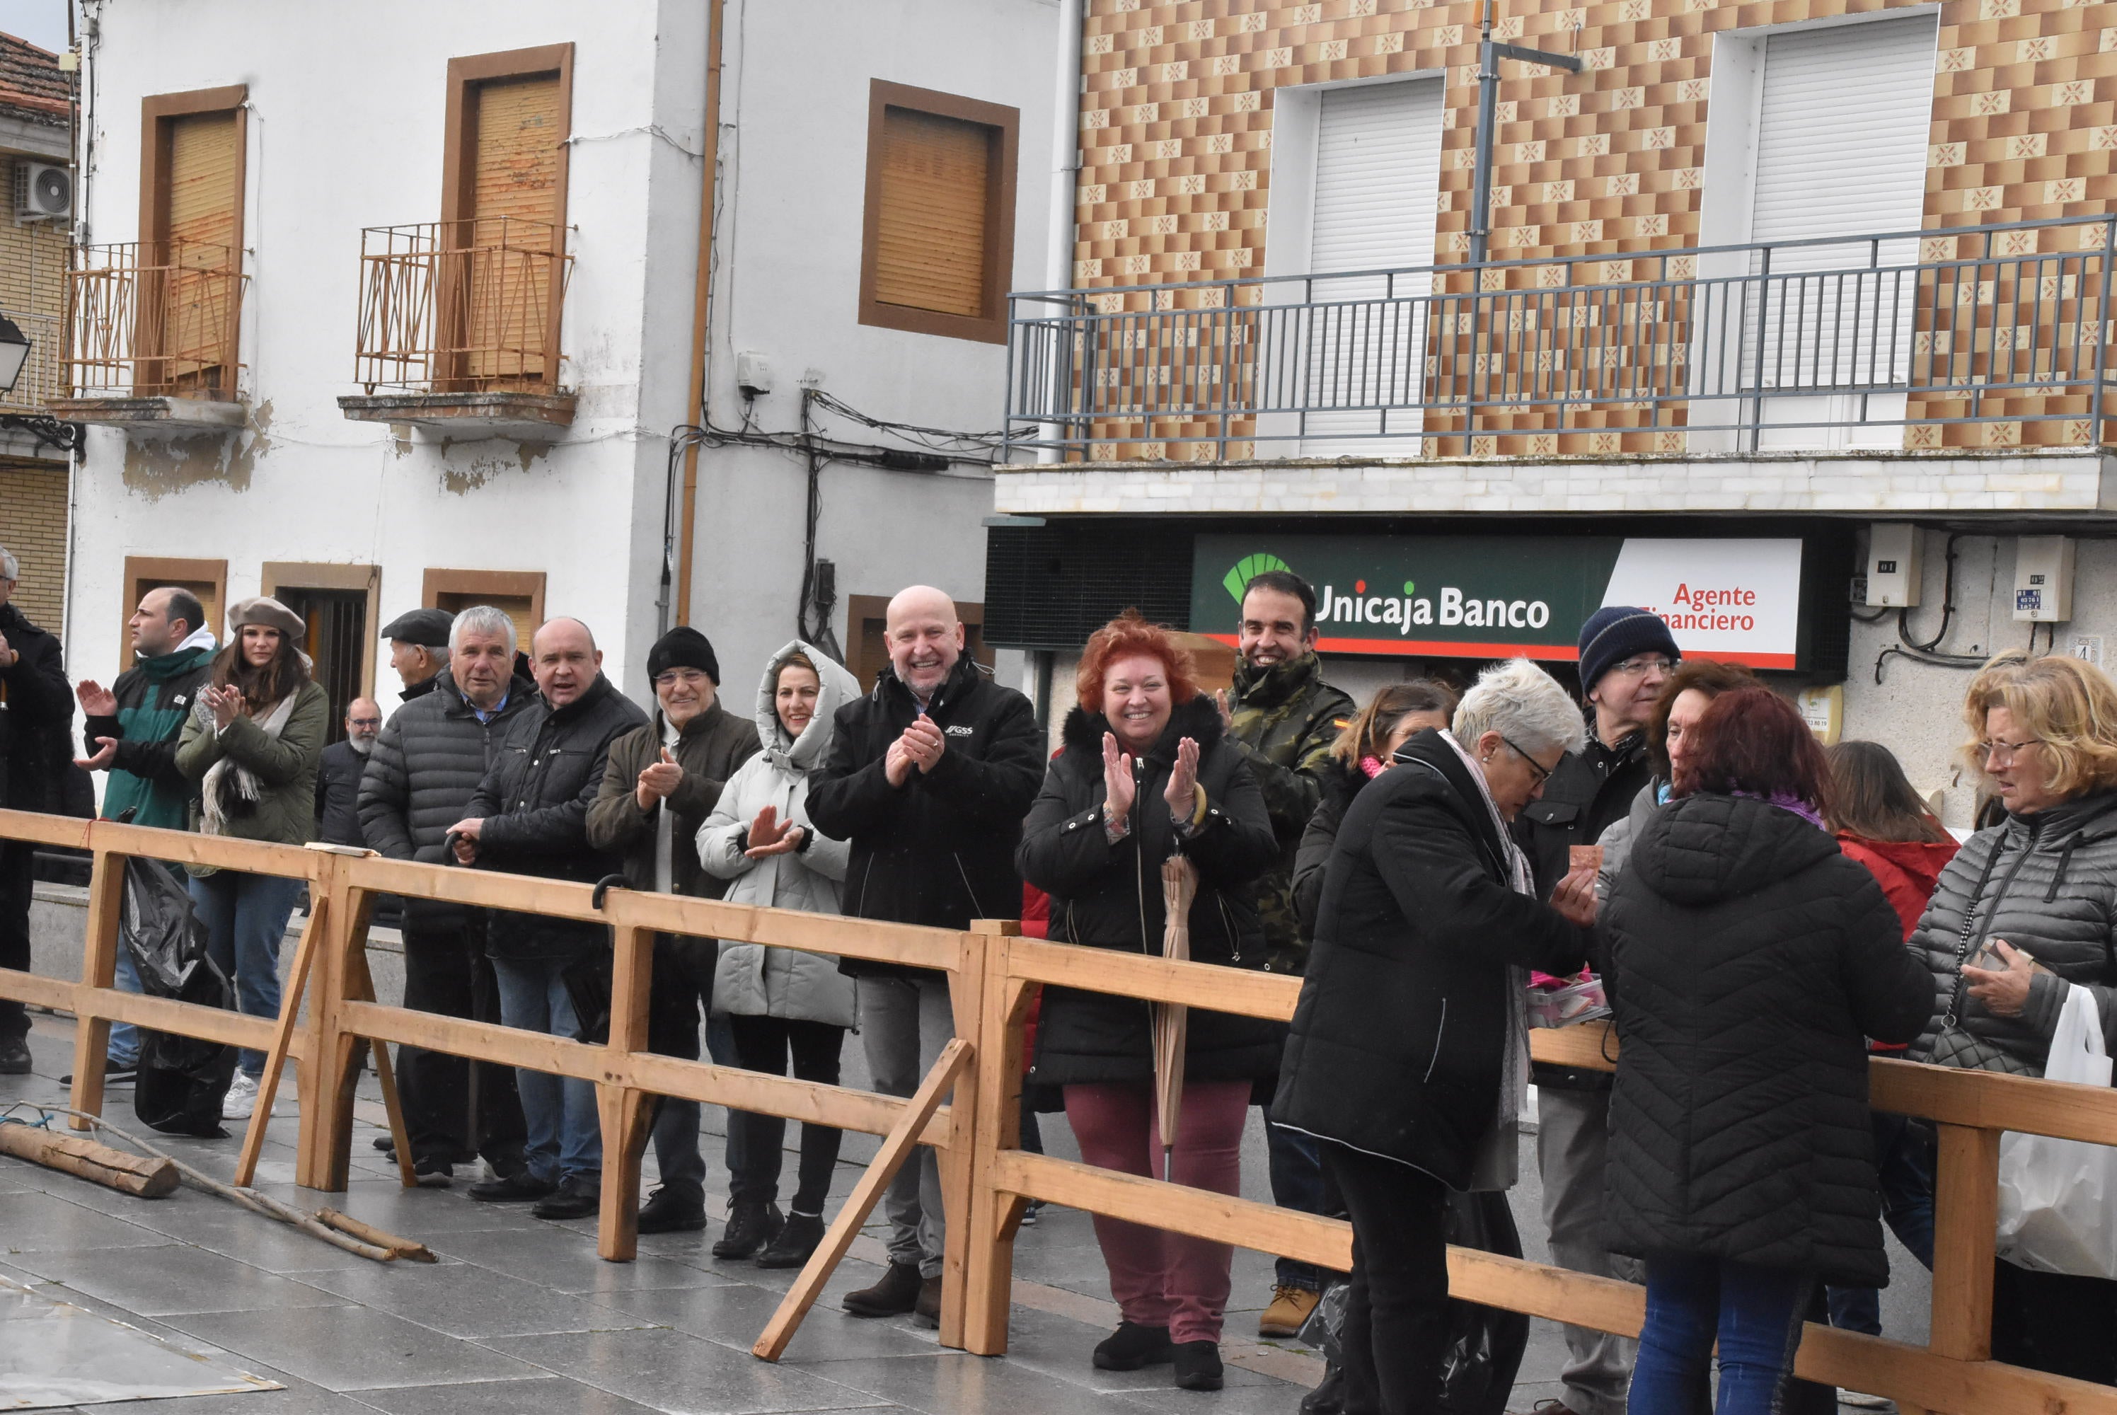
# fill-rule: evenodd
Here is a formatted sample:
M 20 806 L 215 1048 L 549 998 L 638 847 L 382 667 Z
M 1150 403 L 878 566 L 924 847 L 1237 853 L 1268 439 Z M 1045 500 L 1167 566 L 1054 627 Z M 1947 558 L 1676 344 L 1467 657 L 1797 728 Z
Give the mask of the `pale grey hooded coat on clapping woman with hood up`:
M 809 727 L 788 741 L 773 705 L 773 688 L 779 665 L 794 652 L 815 663 L 824 684 Z M 800 640 L 775 652 L 764 665 L 764 682 L 758 684 L 758 737 L 766 744 L 764 752 L 741 765 L 720 792 L 720 805 L 699 828 L 699 864 L 709 875 L 730 881 L 724 896 L 730 904 L 840 913 L 838 885 L 845 881 L 851 845 L 809 824 L 809 773 L 830 756 L 838 708 L 857 697 L 860 680 Z M 775 807 L 779 820 L 794 820 L 809 832 L 802 849 L 764 860 L 743 854 L 749 822 L 764 807 Z M 853 979 L 838 972 L 836 957 L 821 953 L 722 943 L 720 966 L 713 972 L 713 1010 L 851 1027 Z

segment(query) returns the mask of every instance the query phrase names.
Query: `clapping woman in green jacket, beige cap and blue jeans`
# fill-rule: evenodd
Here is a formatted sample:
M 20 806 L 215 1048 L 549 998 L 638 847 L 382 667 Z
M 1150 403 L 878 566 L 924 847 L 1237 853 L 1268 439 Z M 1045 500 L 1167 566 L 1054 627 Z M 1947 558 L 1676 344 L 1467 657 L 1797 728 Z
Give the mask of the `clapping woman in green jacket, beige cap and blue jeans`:
M 301 614 L 269 595 L 229 610 L 233 642 L 214 655 L 212 686 L 199 691 L 176 767 L 199 782 L 201 835 L 305 845 L 315 839 L 315 767 L 330 731 L 330 703 L 309 678 Z M 191 871 L 191 902 L 207 953 L 235 979 L 252 1017 L 279 1015 L 279 938 L 301 896 L 298 879 Z M 241 1121 L 256 1104 L 265 1053 L 246 1051 L 220 1114 Z

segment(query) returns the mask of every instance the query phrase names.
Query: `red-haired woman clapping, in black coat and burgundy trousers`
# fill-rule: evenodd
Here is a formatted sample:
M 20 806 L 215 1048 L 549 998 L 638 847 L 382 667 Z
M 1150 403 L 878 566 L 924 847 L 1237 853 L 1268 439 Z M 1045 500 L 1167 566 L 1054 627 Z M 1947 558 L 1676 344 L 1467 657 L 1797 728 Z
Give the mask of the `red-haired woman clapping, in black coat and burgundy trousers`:
M 1050 938 L 1126 953 L 1162 951 L 1162 862 L 1198 871 L 1190 955 L 1264 966 L 1249 885 L 1279 856 L 1272 822 L 1219 708 L 1198 693 L 1190 655 L 1137 610 L 1097 629 L 1080 661 L 1080 708 L 1065 750 L 1023 824 L 1023 879 L 1050 894 Z M 1154 1006 L 1044 989 L 1029 1080 L 1065 1089 L 1080 1157 L 1103 1169 L 1238 1193 L 1251 1082 L 1279 1065 L 1277 1029 L 1192 1008 L 1173 1174 L 1154 1174 Z M 1101 1371 L 1175 1364 L 1177 1385 L 1219 1390 L 1228 1305 L 1226 1243 L 1094 1220 L 1122 1322 L 1094 1347 Z

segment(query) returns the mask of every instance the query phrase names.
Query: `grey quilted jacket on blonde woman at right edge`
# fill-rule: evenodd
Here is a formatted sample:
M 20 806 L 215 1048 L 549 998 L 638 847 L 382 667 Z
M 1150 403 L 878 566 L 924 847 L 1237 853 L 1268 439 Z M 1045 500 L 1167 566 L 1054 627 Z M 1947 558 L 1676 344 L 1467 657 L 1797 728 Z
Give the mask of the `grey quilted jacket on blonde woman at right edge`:
M 1973 835 L 1941 871 L 1910 941 L 1935 991 L 1935 1019 L 1912 1044 L 1912 1059 L 2041 1076 L 2068 983 L 2094 996 L 2104 1042 L 2117 1049 L 2113 919 L 2117 792 L 2015 816 Z M 2030 983 L 2020 1017 L 1986 1010 L 1962 987 L 1962 960 L 1975 957 L 1988 938 L 2005 938 L 2049 968 Z

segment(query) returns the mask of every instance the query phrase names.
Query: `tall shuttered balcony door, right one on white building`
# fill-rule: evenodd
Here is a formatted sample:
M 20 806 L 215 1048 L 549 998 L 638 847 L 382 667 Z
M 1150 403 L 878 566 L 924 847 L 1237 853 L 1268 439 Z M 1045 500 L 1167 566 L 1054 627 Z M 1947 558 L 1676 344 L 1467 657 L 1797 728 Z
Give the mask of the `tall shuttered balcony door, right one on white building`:
M 557 381 L 572 68 L 572 44 L 449 61 L 436 390 Z

